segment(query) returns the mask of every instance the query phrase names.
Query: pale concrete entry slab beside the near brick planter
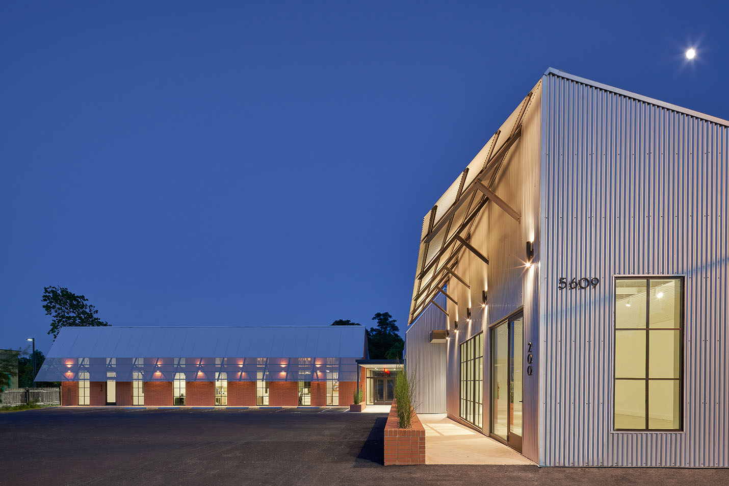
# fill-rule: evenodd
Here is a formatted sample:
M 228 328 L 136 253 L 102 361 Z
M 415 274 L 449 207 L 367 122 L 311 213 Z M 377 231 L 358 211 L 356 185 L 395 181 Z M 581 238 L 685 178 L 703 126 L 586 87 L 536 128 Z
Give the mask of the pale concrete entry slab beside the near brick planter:
M 418 414 L 425 428 L 426 464 L 528 464 L 499 441 L 461 425 L 445 414 Z

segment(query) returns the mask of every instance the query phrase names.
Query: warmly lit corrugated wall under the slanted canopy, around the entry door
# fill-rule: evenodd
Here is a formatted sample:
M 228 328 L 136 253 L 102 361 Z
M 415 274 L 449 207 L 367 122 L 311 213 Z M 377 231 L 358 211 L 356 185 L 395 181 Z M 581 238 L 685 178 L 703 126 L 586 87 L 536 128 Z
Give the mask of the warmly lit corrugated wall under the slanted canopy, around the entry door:
M 459 416 L 459 347 L 475 334 L 484 331 L 483 349 L 483 432 L 491 431 L 490 413 L 490 360 L 491 341 L 488 326 L 504 317 L 524 311 L 524 352 L 532 342 L 537 358 L 534 374 L 523 379 L 523 445 L 522 454 L 537 461 L 539 456 L 539 160 L 542 139 L 541 82 L 532 90 L 533 95 L 522 120 L 521 137 L 504 159 L 499 176 L 491 189 L 511 207 L 521 212 L 521 223 L 512 219 L 496 204 L 488 203 L 475 219 L 471 231 L 471 244 L 489 259 L 488 266 L 468 250 L 461 250 L 456 273 L 469 282 L 470 290 L 456 279 L 451 279 L 449 293 L 459 302 L 458 308 L 448 301 L 451 336 L 453 320 L 459 320 L 455 339 L 448 343 L 447 407 L 449 416 Z M 513 118 L 502 126 L 502 133 L 512 130 Z M 526 268 L 526 242 L 535 242 L 535 255 L 531 268 Z M 481 306 L 482 290 L 488 291 L 488 305 Z M 466 308 L 472 309 L 472 322 L 468 324 Z M 483 325 L 486 323 L 486 325 Z M 526 363 L 523 363 L 526 370 Z

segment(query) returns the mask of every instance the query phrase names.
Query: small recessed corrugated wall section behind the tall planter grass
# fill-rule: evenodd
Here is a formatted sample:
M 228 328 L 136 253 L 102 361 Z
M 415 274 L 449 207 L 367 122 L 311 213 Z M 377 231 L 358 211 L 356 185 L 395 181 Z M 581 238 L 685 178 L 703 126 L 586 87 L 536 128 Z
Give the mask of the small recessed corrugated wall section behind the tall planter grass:
M 442 293 L 434 300 L 445 307 Z M 414 403 L 418 414 L 445 413 L 446 344 L 430 344 L 430 331 L 443 330 L 446 325 L 445 314 L 430 304 L 405 332 L 405 364 L 408 374 L 415 373 Z

